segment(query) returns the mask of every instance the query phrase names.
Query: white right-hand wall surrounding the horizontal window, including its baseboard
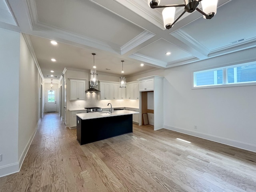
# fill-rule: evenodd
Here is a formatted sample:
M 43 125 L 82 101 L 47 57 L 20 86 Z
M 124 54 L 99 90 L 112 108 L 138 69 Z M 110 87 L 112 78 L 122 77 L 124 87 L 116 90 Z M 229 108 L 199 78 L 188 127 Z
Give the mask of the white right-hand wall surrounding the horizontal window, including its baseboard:
M 256 61 L 255 52 L 165 70 L 164 127 L 256 152 L 256 86 L 192 89 L 192 70 Z

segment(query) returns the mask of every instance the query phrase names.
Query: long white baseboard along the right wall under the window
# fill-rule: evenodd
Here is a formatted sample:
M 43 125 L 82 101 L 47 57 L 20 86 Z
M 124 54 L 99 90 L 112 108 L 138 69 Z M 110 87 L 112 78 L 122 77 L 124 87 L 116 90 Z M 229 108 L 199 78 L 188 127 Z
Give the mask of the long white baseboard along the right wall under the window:
M 167 126 L 167 125 L 164 125 L 164 128 L 168 129 L 168 130 L 184 133 L 184 134 L 187 134 L 187 135 L 199 137 L 199 138 L 202 138 L 202 139 L 222 143 L 222 144 L 225 144 L 225 145 L 237 147 L 237 148 L 240 148 L 240 149 L 256 152 L 256 145 L 253 145 L 253 144 L 250 144 L 250 143 L 240 142 L 240 141 L 231 140 L 231 139 L 228 139 L 228 138 L 218 137 L 218 136 L 214 136 L 214 135 L 210 135 L 210 134 L 204 134 L 204 133 L 200 133 L 200 132 L 196 132 L 196 131 L 192 131 L 192 130 L 187 130 L 187 129 L 183 129 L 183 128 L 178 128 L 178 127 L 171 127 L 171 126 Z

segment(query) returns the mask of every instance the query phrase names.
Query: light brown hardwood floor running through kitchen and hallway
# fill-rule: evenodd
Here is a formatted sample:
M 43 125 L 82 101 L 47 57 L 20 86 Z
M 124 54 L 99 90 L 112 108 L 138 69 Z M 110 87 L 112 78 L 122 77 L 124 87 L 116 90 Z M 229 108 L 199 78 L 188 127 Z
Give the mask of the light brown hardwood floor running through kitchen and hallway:
M 256 153 L 137 125 L 80 146 L 76 129 L 48 113 L 20 172 L 0 178 L 0 191 L 256 192 Z

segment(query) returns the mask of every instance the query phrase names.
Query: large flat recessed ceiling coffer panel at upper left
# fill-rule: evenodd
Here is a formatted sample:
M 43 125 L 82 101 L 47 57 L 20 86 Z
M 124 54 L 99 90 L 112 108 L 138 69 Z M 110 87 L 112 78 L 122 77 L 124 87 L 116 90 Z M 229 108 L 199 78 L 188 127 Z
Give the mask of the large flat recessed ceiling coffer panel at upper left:
M 89 0 L 36 0 L 40 24 L 121 47 L 144 30 Z M 46 14 L 47 13 L 47 14 Z

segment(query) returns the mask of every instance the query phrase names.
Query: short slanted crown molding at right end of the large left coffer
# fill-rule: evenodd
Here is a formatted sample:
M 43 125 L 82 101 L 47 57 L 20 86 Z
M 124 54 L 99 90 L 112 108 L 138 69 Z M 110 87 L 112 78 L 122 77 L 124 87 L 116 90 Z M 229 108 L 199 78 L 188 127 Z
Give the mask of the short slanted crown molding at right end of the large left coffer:
M 123 55 L 123 54 L 127 53 L 128 51 L 139 46 L 140 44 L 144 43 L 145 41 L 149 40 L 150 38 L 152 38 L 154 36 L 155 36 L 155 34 L 145 30 L 144 32 L 142 32 L 141 34 L 139 34 L 138 36 L 136 36 L 135 38 L 133 38 L 132 40 L 130 40 L 129 42 L 124 44 L 121 47 L 121 54 Z

